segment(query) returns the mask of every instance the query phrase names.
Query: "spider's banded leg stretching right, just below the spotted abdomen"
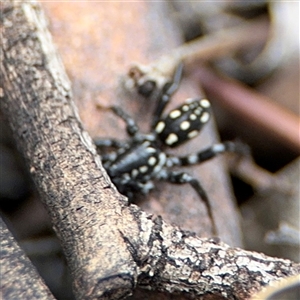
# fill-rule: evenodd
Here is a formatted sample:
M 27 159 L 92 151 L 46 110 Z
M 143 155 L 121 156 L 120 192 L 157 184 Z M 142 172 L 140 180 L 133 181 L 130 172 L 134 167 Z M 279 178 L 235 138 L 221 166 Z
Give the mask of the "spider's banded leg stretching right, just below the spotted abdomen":
M 173 166 L 190 166 L 207 161 L 224 152 L 235 152 L 241 155 L 249 155 L 249 148 L 247 145 L 239 141 L 226 141 L 224 143 L 215 144 L 203 151 L 190 154 L 187 156 L 170 157 L 170 164 Z

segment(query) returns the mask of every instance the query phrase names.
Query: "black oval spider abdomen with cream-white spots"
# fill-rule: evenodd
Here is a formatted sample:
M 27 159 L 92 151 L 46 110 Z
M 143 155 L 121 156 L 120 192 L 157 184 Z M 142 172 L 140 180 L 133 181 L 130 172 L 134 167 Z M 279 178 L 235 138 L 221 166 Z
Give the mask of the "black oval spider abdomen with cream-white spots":
M 169 147 L 176 147 L 197 136 L 210 119 L 207 99 L 187 99 L 160 119 L 154 128 L 158 138 Z

